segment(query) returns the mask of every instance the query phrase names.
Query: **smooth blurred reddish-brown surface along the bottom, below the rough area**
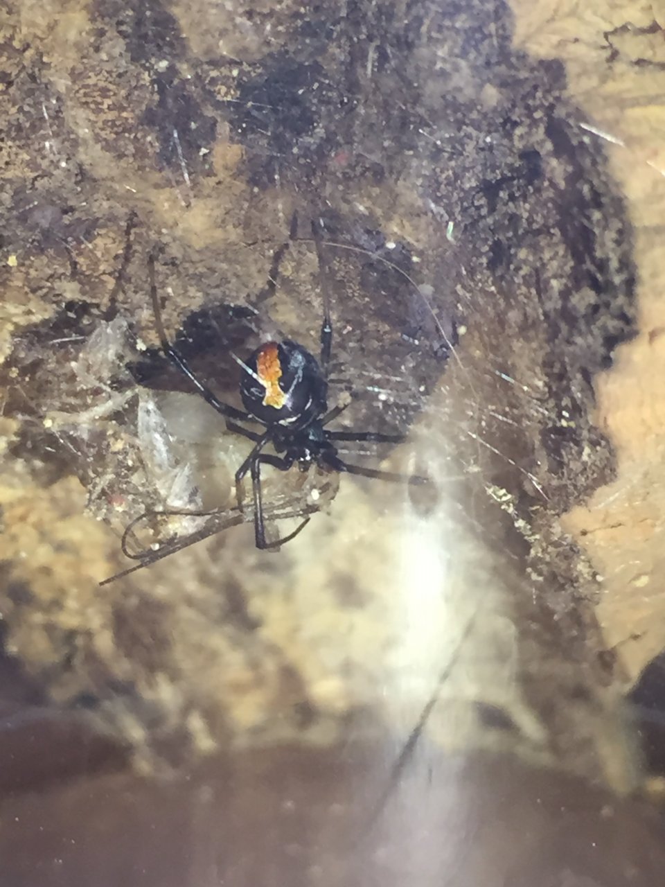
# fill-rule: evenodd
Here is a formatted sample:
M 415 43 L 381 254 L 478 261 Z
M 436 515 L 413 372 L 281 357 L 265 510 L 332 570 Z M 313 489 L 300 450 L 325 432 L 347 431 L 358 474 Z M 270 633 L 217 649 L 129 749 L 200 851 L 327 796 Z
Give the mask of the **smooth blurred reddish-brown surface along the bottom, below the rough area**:
M 0 833 L 4 883 L 661 883 L 661 822 L 644 805 L 514 759 L 423 748 L 377 810 L 388 769 L 380 745 L 283 748 L 208 759 L 186 781 L 102 776 L 27 794 Z

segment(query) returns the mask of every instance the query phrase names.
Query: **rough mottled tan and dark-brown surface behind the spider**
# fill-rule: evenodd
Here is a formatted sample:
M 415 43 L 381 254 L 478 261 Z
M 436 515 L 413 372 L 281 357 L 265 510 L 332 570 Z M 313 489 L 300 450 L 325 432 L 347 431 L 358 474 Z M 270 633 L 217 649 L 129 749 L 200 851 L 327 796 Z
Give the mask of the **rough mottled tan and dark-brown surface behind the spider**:
M 584 9 L 5 9 L 2 642 L 38 718 L 149 773 L 387 731 L 643 785 L 665 43 L 650 4 Z M 267 475 L 273 516 L 318 509 L 279 553 L 246 509 L 99 588 L 146 508 L 238 516 L 246 442 L 157 350 L 151 250 L 233 404 L 231 351 L 317 354 L 327 293 L 337 426 L 407 435 L 340 454 L 431 483 Z

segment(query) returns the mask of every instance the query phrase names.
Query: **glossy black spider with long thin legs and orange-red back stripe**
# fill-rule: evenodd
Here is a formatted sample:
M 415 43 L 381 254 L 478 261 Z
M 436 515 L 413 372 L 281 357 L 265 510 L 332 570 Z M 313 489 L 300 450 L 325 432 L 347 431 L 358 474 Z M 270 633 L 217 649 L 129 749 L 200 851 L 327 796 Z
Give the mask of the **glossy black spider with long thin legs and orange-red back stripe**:
M 288 535 L 275 540 L 267 539 L 262 499 L 262 466 L 288 471 L 293 465 L 298 465 L 301 471 L 307 471 L 312 465 L 317 465 L 328 471 L 361 475 L 394 483 L 427 483 L 426 478 L 417 475 L 406 476 L 351 465 L 340 459 L 336 447 L 338 442 L 401 443 L 404 436 L 381 434 L 375 431 L 332 431 L 327 428 L 329 422 L 339 416 L 345 406 L 335 406 L 329 410 L 327 404 L 332 320 L 330 300 L 325 285 L 325 253 L 316 223 L 312 224 L 312 232 L 317 248 L 324 303 L 324 317 L 320 332 L 320 357 L 317 360 L 299 342 L 292 339 L 264 342 L 246 360 L 231 354 L 242 370 L 239 394 L 245 411 L 226 404 L 215 396 L 213 391 L 193 372 L 186 358 L 168 341 L 161 317 L 160 298 L 157 293 L 154 251 L 148 256 L 148 277 L 155 328 L 164 355 L 180 373 L 183 373 L 191 381 L 193 388 L 206 403 L 224 417 L 226 428 L 229 431 L 242 435 L 254 443 L 252 451 L 236 471 L 235 483 L 237 509 L 241 513 L 244 499 L 243 481 L 247 474 L 251 477 L 254 498 L 254 542 L 256 547 L 260 549 L 278 548 L 291 541 L 309 522 L 309 514 L 311 513 L 311 509 L 306 509 L 307 516 Z M 244 425 L 239 424 L 240 422 L 262 425 L 265 430 L 262 433 L 257 433 L 245 428 Z M 269 444 L 274 453 L 264 452 Z M 302 516 L 302 512 L 299 516 Z M 231 523 L 236 522 L 240 522 L 238 517 L 231 520 Z M 134 523 L 132 522 L 130 526 L 133 526 Z M 122 548 L 125 553 L 129 554 L 124 545 L 128 530 L 125 531 Z M 137 557 L 137 555 L 130 556 Z M 140 555 L 138 557 L 140 559 Z M 130 568 L 129 571 L 131 569 L 137 568 Z M 118 575 L 125 575 L 129 571 Z

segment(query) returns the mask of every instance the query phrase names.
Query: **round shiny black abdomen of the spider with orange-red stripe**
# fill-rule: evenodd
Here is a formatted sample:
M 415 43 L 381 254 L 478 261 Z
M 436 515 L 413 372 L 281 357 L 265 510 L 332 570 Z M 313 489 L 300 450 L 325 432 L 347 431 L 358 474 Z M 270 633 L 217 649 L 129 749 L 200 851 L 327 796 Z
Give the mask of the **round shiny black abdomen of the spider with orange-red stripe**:
M 246 362 L 240 396 L 263 425 L 305 428 L 326 409 L 327 384 L 316 357 L 296 341 L 268 341 Z

